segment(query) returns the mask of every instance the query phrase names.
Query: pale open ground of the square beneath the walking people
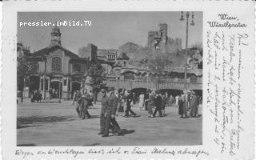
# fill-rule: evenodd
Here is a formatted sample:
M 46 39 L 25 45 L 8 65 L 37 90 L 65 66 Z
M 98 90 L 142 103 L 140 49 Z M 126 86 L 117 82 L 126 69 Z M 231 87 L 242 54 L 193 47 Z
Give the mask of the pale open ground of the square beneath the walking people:
M 179 118 L 178 107 L 166 107 L 163 118 L 147 118 L 146 110 L 134 106 L 138 117 L 117 121 L 124 135 L 99 132 L 100 104 L 89 112 L 92 118 L 81 120 L 70 101 L 62 103 L 18 103 L 18 146 L 182 146 L 202 144 L 202 116 Z M 202 107 L 199 107 L 202 114 Z

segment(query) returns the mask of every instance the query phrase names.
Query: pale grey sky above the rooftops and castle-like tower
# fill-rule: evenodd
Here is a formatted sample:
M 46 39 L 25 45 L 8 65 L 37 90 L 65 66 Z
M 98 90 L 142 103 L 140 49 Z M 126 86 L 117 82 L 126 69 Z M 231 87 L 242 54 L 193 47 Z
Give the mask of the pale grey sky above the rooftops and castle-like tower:
M 184 48 L 186 21 L 179 21 L 180 15 L 180 12 L 19 12 L 18 42 L 30 46 L 31 51 L 40 50 L 50 45 L 53 28 L 52 25 L 20 27 L 20 22 L 90 20 L 91 26 L 58 26 L 62 33 L 62 46 L 75 54 L 88 43 L 99 49 L 118 49 L 126 42 L 146 46 L 148 31 L 158 30 L 159 23 L 166 23 L 168 37 L 182 38 Z M 194 23 L 195 26 L 189 26 L 189 46 L 202 43 L 202 12 L 194 12 Z

